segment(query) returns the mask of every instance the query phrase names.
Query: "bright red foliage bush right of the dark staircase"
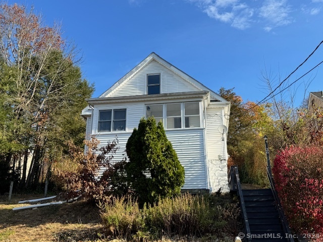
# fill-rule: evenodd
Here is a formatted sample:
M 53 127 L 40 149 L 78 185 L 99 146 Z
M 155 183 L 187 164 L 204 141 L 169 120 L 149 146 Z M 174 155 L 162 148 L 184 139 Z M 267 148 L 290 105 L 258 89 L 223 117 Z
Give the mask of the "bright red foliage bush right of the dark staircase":
M 323 149 L 291 146 L 276 155 L 275 186 L 291 228 L 323 233 Z

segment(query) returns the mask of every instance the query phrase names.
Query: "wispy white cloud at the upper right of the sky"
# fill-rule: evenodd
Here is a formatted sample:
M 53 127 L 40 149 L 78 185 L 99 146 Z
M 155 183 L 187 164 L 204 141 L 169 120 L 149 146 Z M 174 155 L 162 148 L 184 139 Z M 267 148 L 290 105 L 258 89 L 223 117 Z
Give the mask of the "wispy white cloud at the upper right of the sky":
M 247 29 L 252 24 L 262 24 L 264 31 L 270 32 L 278 26 L 285 26 L 294 21 L 293 12 L 305 11 L 300 5 L 292 8 L 292 0 L 184 0 L 196 4 L 210 18 L 230 24 L 234 28 Z M 311 0 L 323 3 L 323 0 Z M 308 13 L 310 10 L 307 10 Z M 318 14 L 320 8 L 313 8 L 311 14 Z

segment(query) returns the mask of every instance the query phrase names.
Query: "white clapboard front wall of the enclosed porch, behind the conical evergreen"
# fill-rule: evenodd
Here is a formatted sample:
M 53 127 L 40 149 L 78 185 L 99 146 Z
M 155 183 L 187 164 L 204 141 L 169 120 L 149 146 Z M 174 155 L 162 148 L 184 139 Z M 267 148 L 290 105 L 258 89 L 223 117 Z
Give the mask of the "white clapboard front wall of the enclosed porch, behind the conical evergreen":
M 99 147 L 118 137 L 120 147 L 117 154 L 114 154 L 115 161 L 120 161 L 126 154 L 126 143 L 134 128 L 138 127 L 139 120 L 144 116 L 144 103 L 134 103 L 127 108 L 127 129 L 125 132 L 97 132 L 98 111 L 110 108 L 124 108 L 119 104 L 100 104 L 93 110 L 93 124 L 87 118 L 87 130 L 92 126 L 91 134 L 95 134 L 100 141 Z M 167 138 L 172 143 L 181 164 L 185 169 L 185 185 L 183 189 L 208 189 L 206 180 L 205 156 L 204 156 L 204 129 L 177 129 L 166 131 Z M 100 174 L 104 168 L 100 170 Z

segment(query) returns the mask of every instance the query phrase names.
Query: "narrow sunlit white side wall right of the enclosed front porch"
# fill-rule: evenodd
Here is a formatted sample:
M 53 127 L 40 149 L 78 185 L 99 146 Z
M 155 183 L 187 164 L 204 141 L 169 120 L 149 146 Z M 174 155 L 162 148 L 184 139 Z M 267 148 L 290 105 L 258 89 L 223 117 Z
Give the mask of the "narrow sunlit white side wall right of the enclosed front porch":
M 206 109 L 206 143 L 207 143 L 207 169 L 210 192 L 229 192 L 227 173 L 227 139 L 222 141 L 222 134 L 218 127 L 223 125 L 224 115 L 222 108 Z

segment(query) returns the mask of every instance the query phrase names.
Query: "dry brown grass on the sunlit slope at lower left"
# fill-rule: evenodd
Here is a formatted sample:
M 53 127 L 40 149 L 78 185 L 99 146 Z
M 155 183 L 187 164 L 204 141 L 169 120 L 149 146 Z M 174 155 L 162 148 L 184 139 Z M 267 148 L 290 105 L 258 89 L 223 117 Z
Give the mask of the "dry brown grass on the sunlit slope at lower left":
M 103 227 L 100 225 L 97 206 L 83 201 L 71 204 L 52 205 L 37 209 L 13 211 L 14 207 L 30 204 L 18 204 L 18 201 L 41 198 L 41 195 L 13 195 L 8 202 L 8 196 L 0 196 L 0 241 L 96 241 L 125 242 L 104 238 Z M 214 236 L 199 239 L 172 238 L 160 239 L 155 242 L 227 242 L 233 238 L 218 239 Z M 146 241 L 149 242 L 149 241 Z

